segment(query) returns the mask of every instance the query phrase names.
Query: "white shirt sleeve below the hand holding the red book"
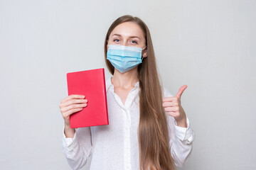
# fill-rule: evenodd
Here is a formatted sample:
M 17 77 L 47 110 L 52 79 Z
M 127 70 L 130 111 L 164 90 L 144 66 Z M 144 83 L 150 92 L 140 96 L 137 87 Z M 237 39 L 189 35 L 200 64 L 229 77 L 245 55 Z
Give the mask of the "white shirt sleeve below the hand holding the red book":
M 90 128 L 78 128 L 73 138 L 65 137 L 63 129 L 63 153 L 72 169 L 81 169 L 92 154 Z

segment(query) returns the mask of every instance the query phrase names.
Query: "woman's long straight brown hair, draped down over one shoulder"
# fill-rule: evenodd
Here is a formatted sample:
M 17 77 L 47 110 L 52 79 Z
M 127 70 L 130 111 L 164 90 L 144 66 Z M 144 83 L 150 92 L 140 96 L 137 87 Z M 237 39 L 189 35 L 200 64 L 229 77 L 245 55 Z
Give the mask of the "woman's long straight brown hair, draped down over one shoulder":
M 144 32 L 146 39 L 146 54 L 138 67 L 139 77 L 139 169 L 173 170 L 174 161 L 171 157 L 166 113 L 162 107 L 162 91 L 156 69 L 156 59 L 149 28 L 137 17 L 121 16 L 117 18 L 107 31 L 105 38 L 105 62 L 111 74 L 114 67 L 107 60 L 107 41 L 110 33 L 121 23 L 132 21 L 137 23 Z

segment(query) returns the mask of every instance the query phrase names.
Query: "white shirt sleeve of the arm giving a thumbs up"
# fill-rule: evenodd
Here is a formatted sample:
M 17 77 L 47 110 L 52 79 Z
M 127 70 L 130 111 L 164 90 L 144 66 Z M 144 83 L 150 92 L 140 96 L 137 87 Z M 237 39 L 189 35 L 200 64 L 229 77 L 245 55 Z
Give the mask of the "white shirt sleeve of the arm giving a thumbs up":
M 169 91 L 163 88 L 163 96 L 172 96 Z M 176 166 L 183 166 L 188 161 L 193 148 L 194 132 L 191 129 L 188 116 L 186 118 L 187 128 L 177 126 L 174 117 L 166 113 L 168 132 L 169 132 L 169 146 L 171 149 L 171 156 L 174 159 Z

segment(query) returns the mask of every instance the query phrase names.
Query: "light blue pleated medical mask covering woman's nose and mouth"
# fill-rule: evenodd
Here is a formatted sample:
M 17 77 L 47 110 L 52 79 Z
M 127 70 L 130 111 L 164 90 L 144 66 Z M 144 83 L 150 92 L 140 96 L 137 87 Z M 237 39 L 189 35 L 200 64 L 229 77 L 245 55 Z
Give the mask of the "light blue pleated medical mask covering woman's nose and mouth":
M 107 50 L 107 60 L 119 72 L 127 72 L 142 63 L 142 50 L 146 47 L 129 47 L 122 45 L 109 45 Z

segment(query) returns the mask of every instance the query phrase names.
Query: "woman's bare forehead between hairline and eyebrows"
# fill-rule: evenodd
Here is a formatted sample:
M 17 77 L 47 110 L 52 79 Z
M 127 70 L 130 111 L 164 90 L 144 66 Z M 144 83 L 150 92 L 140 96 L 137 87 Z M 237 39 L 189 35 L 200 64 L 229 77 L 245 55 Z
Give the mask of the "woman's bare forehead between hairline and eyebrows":
M 122 36 L 137 36 L 144 37 L 142 28 L 137 23 L 125 22 L 121 23 L 112 30 L 110 36 L 113 34 L 119 34 Z

